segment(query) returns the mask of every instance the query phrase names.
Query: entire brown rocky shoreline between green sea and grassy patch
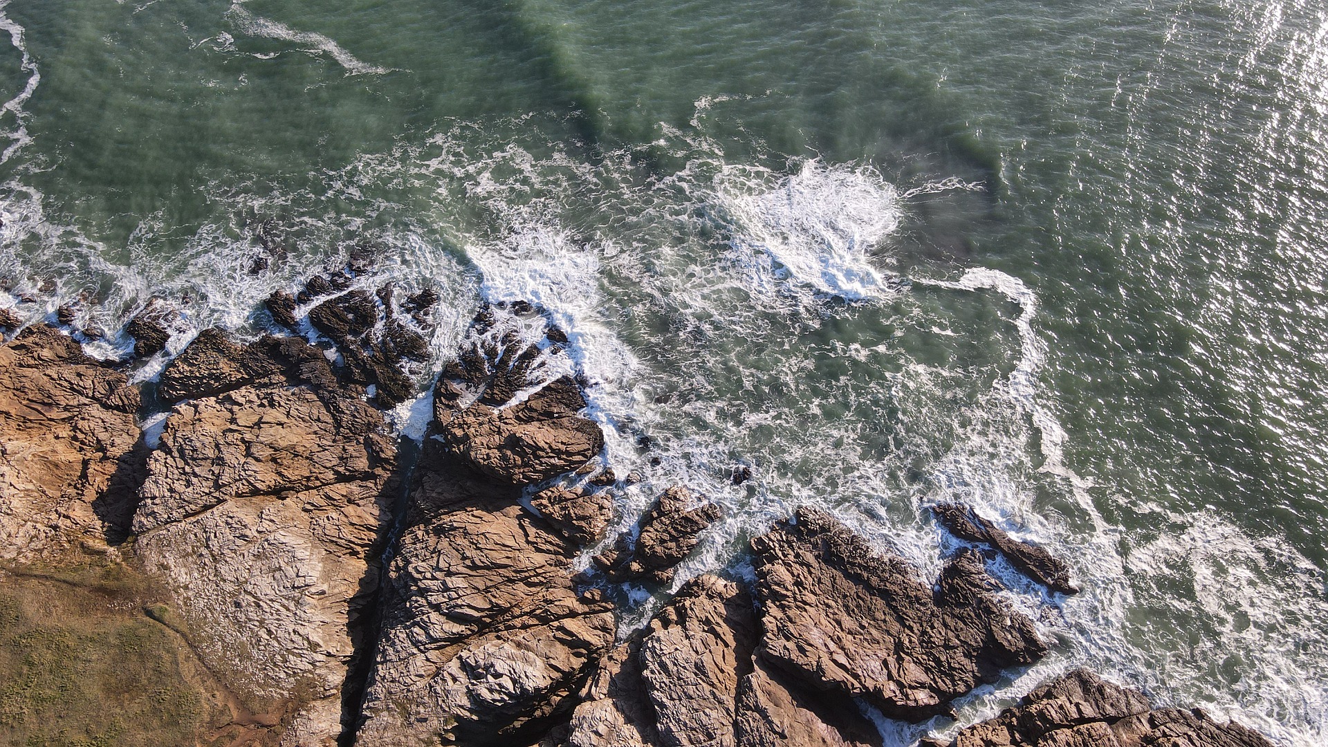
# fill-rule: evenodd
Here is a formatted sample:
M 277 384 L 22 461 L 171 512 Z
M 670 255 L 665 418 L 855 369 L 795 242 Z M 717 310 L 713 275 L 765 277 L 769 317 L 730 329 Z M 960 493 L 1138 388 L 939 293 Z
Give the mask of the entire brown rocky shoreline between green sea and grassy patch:
M 0 346 L 0 561 L 98 558 L 158 585 L 169 602 L 145 614 L 248 714 L 198 744 L 880 746 L 872 718 L 950 714 L 1049 650 L 979 548 L 1078 590 L 965 506 L 932 509 L 972 545 L 935 580 L 802 508 L 752 540 L 753 577 L 692 578 L 620 635 L 615 585 L 667 587 L 721 508 L 677 485 L 606 538 L 633 476 L 600 463 L 567 336 L 530 304 L 479 311 L 422 444 L 398 440 L 381 408 L 413 396 L 437 298 L 352 274 L 267 303 L 331 344 L 205 330 L 150 391 L 46 324 Z M 137 354 L 170 324 L 138 315 Z M 150 436 L 149 400 L 166 411 Z M 1270 742 L 1080 670 L 946 744 Z

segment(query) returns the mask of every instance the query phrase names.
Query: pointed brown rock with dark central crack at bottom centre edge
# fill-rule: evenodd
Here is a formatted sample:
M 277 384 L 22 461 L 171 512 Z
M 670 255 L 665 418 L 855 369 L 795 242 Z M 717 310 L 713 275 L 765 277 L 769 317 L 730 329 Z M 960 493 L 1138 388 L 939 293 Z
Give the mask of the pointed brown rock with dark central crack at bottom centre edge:
M 714 576 L 689 581 L 600 662 L 572 714 L 568 744 L 879 746 L 850 698 L 790 687 L 754 657 L 756 614 L 740 585 Z

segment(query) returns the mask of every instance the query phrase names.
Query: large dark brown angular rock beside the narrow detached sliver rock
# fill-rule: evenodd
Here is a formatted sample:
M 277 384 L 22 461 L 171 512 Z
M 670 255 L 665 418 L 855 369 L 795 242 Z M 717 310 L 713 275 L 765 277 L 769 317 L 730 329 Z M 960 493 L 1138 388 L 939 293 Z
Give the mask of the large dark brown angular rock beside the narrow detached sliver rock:
M 898 556 L 878 556 L 830 516 L 802 508 L 752 541 L 761 655 L 794 681 L 922 720 L 1004 667 L 1046 653 L 1033 623 L 991 593 L 972 550 L 934 593 Z

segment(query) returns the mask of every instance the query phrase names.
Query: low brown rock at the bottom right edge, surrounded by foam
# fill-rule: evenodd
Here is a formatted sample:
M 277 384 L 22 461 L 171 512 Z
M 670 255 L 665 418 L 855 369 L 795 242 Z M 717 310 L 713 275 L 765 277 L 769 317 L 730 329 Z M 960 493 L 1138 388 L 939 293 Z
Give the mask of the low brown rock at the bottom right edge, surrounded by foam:
M 1218 723 L 1199 708 L 1158 708 L 1135 690 L 1074 670 L 1033 690 L 996 718 L 951 742 L 927 747 L 1272 747 L 1238 724 Z

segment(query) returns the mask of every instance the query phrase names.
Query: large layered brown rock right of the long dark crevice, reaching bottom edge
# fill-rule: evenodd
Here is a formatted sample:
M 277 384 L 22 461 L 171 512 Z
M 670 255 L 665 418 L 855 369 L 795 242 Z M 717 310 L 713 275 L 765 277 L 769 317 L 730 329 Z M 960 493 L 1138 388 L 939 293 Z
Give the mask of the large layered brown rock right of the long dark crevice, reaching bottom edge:
M 534 740 L 612 646 L 612 606 L 578 597 L 575 548 L 510 485 L 448 453 L 425 455 L 418 472 L 357 743 Z

